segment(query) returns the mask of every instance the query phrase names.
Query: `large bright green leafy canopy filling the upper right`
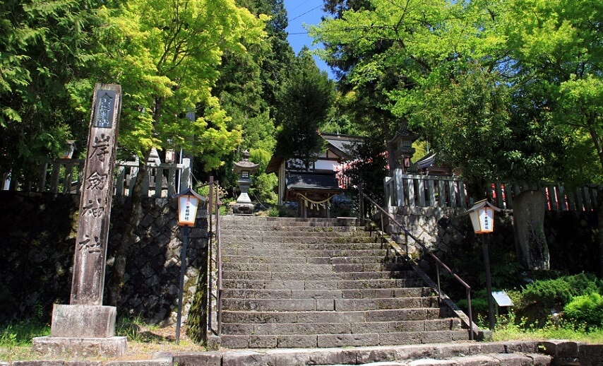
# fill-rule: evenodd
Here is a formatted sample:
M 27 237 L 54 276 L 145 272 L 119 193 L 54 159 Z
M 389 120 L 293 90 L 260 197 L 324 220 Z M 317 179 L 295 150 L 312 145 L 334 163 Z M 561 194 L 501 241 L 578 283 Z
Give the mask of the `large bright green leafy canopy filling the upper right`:
M 326 1 L 335 18 L 309 30 L 340 85 L 407 119 L 466 177 L 537 180 L 566 176 L 568 136 L 601 151 L 602 6 L 570 3 Z

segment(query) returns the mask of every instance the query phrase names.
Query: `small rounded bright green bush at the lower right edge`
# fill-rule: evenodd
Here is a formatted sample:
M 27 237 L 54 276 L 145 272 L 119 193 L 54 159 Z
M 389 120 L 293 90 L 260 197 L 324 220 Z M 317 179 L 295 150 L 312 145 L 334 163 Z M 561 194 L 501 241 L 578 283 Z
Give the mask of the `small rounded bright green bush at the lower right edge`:
M 563 308 L 563 312 L 574 329 L 589 331 L 602 328 L 603 296 L 598 293 L 576 296 Z

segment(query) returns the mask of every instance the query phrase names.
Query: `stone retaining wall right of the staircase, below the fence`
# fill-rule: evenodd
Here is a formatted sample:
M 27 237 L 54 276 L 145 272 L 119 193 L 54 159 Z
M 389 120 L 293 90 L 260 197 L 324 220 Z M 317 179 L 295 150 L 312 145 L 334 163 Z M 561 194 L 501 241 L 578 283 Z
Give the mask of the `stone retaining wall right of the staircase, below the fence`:
M 474 242 L 479 246 L 470 219 L 461 216 L 463 211 L 459 208 L 393 207 L 390 210 L 398 223 L 422 240 L 441 259 L 446 260 L 447 256 L 467 243 Z M 376 216 L 378 218 L 378 214 Z M 513 211 L 496 213 L 495 219 L 491 243 L 515 250 Z M 386 232 L 392 234 L 397 242 L 405 243 L 404 234 L 400 235 L 397 225 L 389 224 L 388 220 L 385 222 Z M 568 273 L 597 273 L 599 254 L 596 232 L 597 213 L 594 211 L 547 211 L 544 233 L 549 244 L 551 269 Z M 411 239 L 410 244 L 412 242 Z M 411 245 L 409 252 L 417 252 L 417 249 Z

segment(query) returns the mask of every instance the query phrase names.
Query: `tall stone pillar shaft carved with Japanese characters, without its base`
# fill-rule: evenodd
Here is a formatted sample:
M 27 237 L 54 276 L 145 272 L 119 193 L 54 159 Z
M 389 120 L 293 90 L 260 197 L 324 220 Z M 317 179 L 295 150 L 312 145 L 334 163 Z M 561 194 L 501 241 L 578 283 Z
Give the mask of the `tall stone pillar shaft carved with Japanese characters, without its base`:
M 82 173 L 71 305 L 102 305 L 121 86 L 95 85 L 88 156 Z

